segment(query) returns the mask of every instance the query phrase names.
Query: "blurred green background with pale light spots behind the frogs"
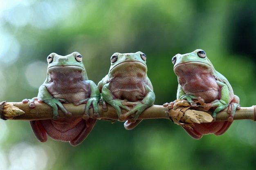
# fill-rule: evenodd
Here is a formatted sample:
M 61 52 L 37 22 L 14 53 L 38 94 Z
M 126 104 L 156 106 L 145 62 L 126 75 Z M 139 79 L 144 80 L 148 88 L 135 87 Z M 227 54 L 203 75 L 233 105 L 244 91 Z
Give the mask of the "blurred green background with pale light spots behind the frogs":
M 176 98 L 171 58 L 203 49 L 243 107 L 255 105 L 256 1 L 0 0 L 0 101 L 35 97 L 49 53 L 78 51 L 89 79 L 108 73 L 115 52 L 142 51 L 155 104 Z M 79 146 L 40 143 L 26 121 L 0 121 L 1 170 L 252 170 L 256 123 L 234 121 L 219 137 L 192 139 L 167 119 L 97 121 Z

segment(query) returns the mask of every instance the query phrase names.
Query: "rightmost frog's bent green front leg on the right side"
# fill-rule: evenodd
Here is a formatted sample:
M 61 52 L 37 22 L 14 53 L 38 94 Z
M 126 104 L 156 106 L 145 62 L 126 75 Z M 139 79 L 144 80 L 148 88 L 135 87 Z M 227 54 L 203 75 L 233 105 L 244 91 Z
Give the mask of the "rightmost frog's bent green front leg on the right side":
M 220 89 L 221 89 L 220 99 L 216 99 L 213 102 L 204 105 L 204 110 L 209 110 L 210 108 L 216 107 L 216 109 L 212 113 L 212 117 L 213 117 L 214 121 L 216 119 L 217 113 L 229 106 L 229 88 L 228 88 L 227 84 L 222 83 L 220 81 L 216 81 L 216 82 L 220 86 Z

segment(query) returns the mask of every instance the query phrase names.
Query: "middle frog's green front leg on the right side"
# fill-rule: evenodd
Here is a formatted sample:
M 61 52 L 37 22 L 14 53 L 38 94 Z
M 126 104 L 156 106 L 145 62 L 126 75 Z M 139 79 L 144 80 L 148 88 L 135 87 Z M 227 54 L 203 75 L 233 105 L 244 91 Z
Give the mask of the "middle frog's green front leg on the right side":
M 124 105 L 135 105 L 130 111 L 127 113 L 124 113 L 123 115 L 120 116 L 121 120 L 125 120 L 128 116 L 132 115 L 135 113 L 135 116 L 130 119 L 132 123 L 134 123 L 139 115 L 148 107 L 152 106 L 154 101 L 155 101 L 155 93 L 151 88 L 149 88 L 148 85 L 146 85 L 146 89 L 148 91 L 147 95 L 142 99 L 141 101 L 138 102 L 123 102 Z

